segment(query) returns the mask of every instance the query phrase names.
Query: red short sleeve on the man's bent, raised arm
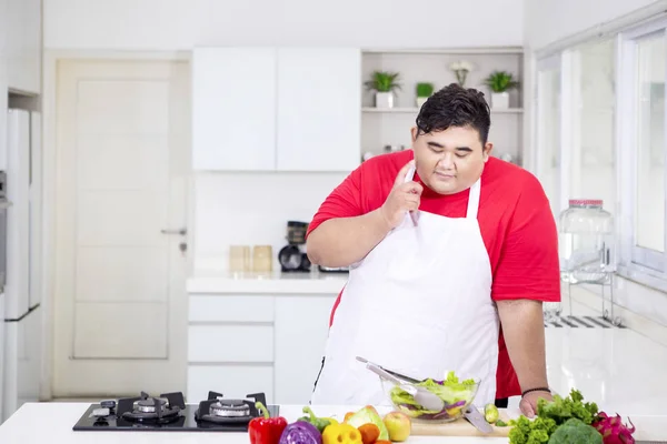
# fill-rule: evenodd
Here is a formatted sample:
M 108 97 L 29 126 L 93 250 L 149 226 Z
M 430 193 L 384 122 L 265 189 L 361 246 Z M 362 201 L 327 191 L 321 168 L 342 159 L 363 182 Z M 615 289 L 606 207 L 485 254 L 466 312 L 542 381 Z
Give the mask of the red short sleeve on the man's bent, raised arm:
M 361 174 L 362 167 L 359 167 L 334 189 L 312 216 L 306 235 L 310 234 L 329 219 L 354 218 L 364 214 L 361 205 Z

